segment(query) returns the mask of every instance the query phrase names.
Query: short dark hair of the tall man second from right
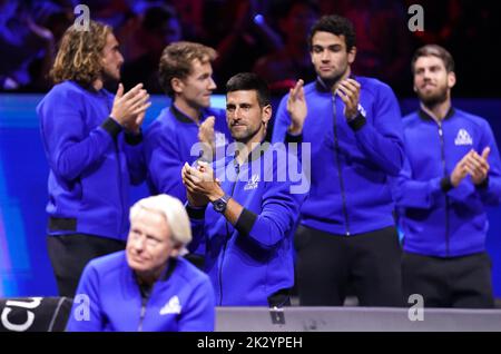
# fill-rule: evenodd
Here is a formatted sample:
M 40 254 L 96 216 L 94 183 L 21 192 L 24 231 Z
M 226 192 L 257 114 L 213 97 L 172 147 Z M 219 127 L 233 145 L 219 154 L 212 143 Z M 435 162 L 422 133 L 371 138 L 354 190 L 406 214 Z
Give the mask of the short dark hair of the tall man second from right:
M 310 30 L 308 45 L 310 50 L 312 50 L 313 36 L 316 32 L 330 32 L 336 36 L 344 36 L 346 42 L 346 51 L 352 50 L 356 46 L 356 33 L 353 23 L 338 14 L 323 16 L 318 21 L 316 21 L 312 29 Z

